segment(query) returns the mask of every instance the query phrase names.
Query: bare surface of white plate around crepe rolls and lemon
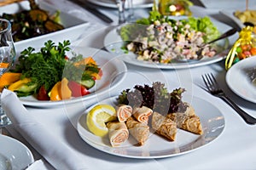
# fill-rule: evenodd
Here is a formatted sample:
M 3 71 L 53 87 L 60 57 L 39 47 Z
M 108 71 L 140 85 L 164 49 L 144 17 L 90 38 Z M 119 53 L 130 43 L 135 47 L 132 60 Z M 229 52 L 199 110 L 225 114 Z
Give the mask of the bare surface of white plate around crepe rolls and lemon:
M 108 137 L 98 137 L 88 130 L 86 126 L 86 114 L 94 106 L 92 105 L 85 113 L 80 116 L 77 129 L 84 141 L 97 150 L 102 150 L 115 156 L 124 156 L 137 159 L 164 158 L 179 156 L 190 151 L 197 150 L 218 138 L 224 130 L 224 116 L 211 103 L 204 99 L 183 96 L 184 101 L 194 106 L 195 113 L 201 118 L 204 134 L 196 135 L 183 130 L 177 131 L 177 138 L 174 142 L 167 141 L 157 134 L 150 133 L 148 141 L 143 146 L 135 146 L 134 139 L 130 137 L 119 147 L 111 147 Z M 188 100 L 187 100 L 188 99 Z M 115 105 L 116 97 L 102 100 L 101 104 Z M 97 104 L 99 104 L 97 103 Z M 96 105 L 97 105 L 96 104 Z M 207 111 L 207 114 L 206 114 Z

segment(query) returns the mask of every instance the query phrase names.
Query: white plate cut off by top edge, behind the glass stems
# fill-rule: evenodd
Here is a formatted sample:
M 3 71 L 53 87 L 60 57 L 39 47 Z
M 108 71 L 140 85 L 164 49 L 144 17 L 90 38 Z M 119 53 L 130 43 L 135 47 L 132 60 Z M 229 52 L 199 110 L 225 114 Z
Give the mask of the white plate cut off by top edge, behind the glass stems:
M 108 8 L 117 8 L 114 0 L 87 0 L 90 3 Z M 127 3 L 125 3 L 127 5 Z M 133 0 L 134 8 L 150 8 L 153 6 L 153 0 Z

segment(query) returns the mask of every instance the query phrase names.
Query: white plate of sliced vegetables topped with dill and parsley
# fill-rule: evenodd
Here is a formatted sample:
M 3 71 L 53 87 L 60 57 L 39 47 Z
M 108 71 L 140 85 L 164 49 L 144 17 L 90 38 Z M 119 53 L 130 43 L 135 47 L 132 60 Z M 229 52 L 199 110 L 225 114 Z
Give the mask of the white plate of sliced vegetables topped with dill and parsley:
M 38 51 L 24 49 L 15 67 L 1 77 L 0 87 L 14 91 L 25 105 L 71 104 L 106 93 L 125 71 L 125 64 L 107 52 L 47 41 Z

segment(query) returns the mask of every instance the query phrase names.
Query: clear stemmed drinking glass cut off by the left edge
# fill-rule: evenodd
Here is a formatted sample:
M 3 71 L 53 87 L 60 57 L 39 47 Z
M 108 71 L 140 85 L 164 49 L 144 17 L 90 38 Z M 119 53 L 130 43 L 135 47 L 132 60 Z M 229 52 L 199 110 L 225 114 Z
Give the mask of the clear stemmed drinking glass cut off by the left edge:
M 14 60 L 15 45 L 12 37 L 11 24 L 9 20 L 0 18 L 0 77 L 4 72 L 9 71 Z M 0 90 L 2 92 L 2 89 Z M 0 105 L 0 127 L 4 127 L 10 123 L 9 118 L 5 115 L 3 108 Z

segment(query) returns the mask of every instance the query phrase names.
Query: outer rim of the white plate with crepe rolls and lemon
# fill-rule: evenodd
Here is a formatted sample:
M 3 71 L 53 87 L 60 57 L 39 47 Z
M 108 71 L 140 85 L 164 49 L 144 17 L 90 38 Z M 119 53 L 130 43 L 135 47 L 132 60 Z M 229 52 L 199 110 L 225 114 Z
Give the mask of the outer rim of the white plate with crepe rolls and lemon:
M 112 97 L 112 98 L 108 98 L 108 99 L 103 99 L 99 103 L 102 103 L 102 104 L 107 103 L 108 104 L 109 99 L 113 100 L 113 99 L 116 99 L 116 97 L 117 96 Z M 191 96 L 189 98 L 191 98 Z M 200 102 L 205 102 L 204 104 L 207 104 L 208 106 L 211 105 L 212 108 L 215 110 L 215 111 L 213 111 L 213 114 L 215 114 L 215 116 L 212 116 L 211 121 L 209 121 L 209 122 L 207 122 L 208 120 L 202 120 L 201 121 L 203 129 L 205 131 L 204 134 L 201 135 L 201 136 L 198 136 L 198 138 L 195 139 L 195 145 L 192 146 L 192 143 L 191 143 L 191 146 L 188 146 L 190 144 L 189 143 L 187 145 L 180 146 L 178 148 L 178 150 L 180 150 L 180 152 L 174 152 L 174 153 L 172 152 L 172 154 L 170 154 L 168 152 L 167 153 L 164 152 L 165 154 L 162 154 L 162 155 L 158 154 L 156 152 L 156 153 L 154 153 L 155 155 L 152 155 L 152 156 L 150 156 L 150 155 L 149 156 L 143 156 L 143 155 L 142 156 L 137 156 L 137 153 L 134 150 L 131 150 L 131 154 L 127 155 L 123 151 L 122 147 L 113 148 L 113 147 L 111 147 L 110 145 L 107 145 L 107 144 L 99 144 L 97 140 L 90 139 L 91 136 L 94 136 L 94 134 L 90 133 L 86 129 L 86 127 L 84 127 L 84 124 L 82 124 L 82 123 L 84 123 L 85 118 L 86 118 L 86 111 L 79 117 L 79 121 L 77 122 L 77 130 L 79 132 L 79 136 L 84 140 L 84 142 L 86 142 L 87 144 L 90 144 L 90 146 L 94 147 L 96 150 L 101 150 L 102 152 L 105 152 L 105 153 L 108 153 L 108 154 L 111 154 L 111 155 L 114 155 L 114 156 L 121 156 L 121 157 L 135 158 L 135 159 L 153 159 L 153 158 L 166 158 L 166 157 L 172 157 L 172 156 L 180 156 L 180 155 L 183 155 L 183 154 L 187 154 L 191 151 L 198 150 L 198 149 L 200 149 L 200 148 L 202 148 L 202 147 L 204 147 L 208 144 L 211 144 L 212 142 L 216 141 L 216 139 L 218 139 L 218 137 L 224 132 L 225 120 L 224 120 L 224 116 L 218 110 L 218 108 L 216 106 L 212 105 L 210 102 L 207 102 L 205 99 L 201 99 L 201 98 L 198 98 L 198 97 L 195 97 L 195 96 L 193 96 L 193 99 L 198 100 L 198 101 L 195 101 L 195 103 L 199 102 L 199 100 L 200 100 Z M 99 104 L 99 103 L 97 103 L 97 104 Z M 95 105 L 97 105 L 97 104 L 95 104 Z M 90 108 L 88 108 L 87 111 L 89 111 L 93 106 L 94 105 L 91 105 Z M 209 112 L 207 112 L 207 115 L 208 114 L 209 114 Z M 213 121 L 214 117 L 216 118 L 216 122 Z M 215 125 L 216 127 L 214 127 L 214 126 L 211 127 L 211 125 L 212 125 L 211 123 L 216 123 L 216 125 Z M 206 131 L 206 129 L 207 129 L 207 131 Z M 214 135 L 212 135 L 211 133 L 214 133 Z M 209 136 L 207 136 L 207 135 L 209 135 Z M 100 137 L 96 137 L 96 138 L 100 138 Z M 206 139 L 206 141 L 205 141 L 206 143 L 205 144 L 200 144 L 202 142 L 203 138 Z M 150 139 L 148 139 L 148 140 L 150 140 Z M 132 146 L 132 147 L 137 147 L 137 146 Z M 144 147 L 144 146 L 141 146 L 141 147 Z M 189 147 L 191 147 L 191 148 L 189 148 Z M 174 148 L 173 150 L 176 150 L 176 149 L 177 148 Z M 134 153 L 134 155 L 132 155 L 133 153 Z

